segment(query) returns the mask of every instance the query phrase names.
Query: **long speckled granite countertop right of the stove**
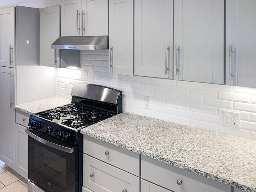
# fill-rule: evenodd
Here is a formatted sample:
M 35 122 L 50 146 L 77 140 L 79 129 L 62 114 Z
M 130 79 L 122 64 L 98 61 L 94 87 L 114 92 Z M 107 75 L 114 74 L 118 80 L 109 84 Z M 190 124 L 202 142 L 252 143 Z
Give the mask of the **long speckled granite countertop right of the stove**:
M 83 134 L 167 164 L 256 192 L 256 141 L 122 113 Z

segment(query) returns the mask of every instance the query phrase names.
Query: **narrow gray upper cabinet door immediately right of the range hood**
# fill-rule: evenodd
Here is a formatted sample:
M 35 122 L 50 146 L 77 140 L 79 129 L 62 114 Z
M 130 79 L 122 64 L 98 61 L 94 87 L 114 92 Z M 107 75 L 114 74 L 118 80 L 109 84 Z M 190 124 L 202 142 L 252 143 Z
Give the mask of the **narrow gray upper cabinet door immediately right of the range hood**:
M 109 0 L 110 73 L 133 76 L 133 0 Z

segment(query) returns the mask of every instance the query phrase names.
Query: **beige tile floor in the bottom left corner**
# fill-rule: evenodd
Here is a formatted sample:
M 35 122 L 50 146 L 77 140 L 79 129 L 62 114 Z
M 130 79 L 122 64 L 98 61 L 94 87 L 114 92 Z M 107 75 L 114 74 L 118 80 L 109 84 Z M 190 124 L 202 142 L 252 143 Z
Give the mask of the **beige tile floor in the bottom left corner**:
M 28 192 L 28 181 L 0 160 L 0 192 Z

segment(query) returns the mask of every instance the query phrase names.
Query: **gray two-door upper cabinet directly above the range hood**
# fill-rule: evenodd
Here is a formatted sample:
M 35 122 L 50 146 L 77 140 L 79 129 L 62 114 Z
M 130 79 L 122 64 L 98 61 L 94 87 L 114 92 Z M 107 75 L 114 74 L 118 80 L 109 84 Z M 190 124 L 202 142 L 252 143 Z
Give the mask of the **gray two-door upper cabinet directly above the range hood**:
M 108 0 L 61 0 L 61 36 L 108 35 Z

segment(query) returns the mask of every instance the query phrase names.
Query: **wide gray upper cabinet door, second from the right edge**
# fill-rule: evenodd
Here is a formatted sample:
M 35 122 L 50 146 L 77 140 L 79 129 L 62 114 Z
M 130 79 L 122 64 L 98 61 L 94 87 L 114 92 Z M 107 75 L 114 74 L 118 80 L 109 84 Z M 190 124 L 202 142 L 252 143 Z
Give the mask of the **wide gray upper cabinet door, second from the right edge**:
M 224 84 L 224 0 L 174 0 L 174 79 Z

